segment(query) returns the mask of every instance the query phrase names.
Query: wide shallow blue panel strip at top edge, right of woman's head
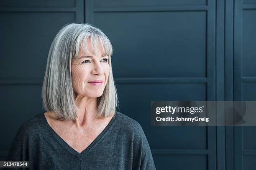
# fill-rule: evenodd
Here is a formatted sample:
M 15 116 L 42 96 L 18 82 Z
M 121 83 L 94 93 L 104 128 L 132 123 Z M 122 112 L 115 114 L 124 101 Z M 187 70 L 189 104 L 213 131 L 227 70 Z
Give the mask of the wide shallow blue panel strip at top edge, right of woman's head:
M 141 7 L 172 5 L 206 5 L 206 0 L 94 0 L 94 7 Z

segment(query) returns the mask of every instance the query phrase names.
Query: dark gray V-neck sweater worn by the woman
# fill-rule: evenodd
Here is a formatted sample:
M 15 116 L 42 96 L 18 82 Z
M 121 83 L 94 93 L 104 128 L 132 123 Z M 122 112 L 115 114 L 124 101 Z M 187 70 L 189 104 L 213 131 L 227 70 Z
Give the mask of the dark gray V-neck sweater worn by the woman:
M 20 125 L 7 161 L 29 161 L 33 170 L 156 169 L 141 125 L 120 112 L 82 153 L 55 133 L 44 112 L 34 115 Z

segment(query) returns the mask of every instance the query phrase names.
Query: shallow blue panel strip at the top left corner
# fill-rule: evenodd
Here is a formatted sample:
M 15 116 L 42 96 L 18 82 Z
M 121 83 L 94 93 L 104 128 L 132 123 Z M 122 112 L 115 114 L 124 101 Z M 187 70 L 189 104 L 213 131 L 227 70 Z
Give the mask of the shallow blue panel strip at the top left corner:
M 75 0 L 1 0 L 0 7 L 74 7 Z

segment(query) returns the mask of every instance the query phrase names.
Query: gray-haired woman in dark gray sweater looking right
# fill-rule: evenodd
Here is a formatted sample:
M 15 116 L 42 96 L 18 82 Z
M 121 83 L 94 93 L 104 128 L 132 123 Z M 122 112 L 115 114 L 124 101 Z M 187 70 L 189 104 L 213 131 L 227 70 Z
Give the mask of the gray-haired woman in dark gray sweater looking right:
M 108 37 L 68 24 L 54 38 L 42 99 L 46 112 L 18 129 L 8 161 L 36 170 L 155 170 L 141 125 L 117 112 Z

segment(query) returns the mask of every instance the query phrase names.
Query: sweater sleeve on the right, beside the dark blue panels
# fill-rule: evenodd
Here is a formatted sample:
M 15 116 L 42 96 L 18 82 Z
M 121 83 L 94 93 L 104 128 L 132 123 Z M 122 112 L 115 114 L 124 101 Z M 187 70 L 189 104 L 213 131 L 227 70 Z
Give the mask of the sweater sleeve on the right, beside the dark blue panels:
M 138 124 L 133 144 L 133 170 L 156 170 L 146 135 Z

